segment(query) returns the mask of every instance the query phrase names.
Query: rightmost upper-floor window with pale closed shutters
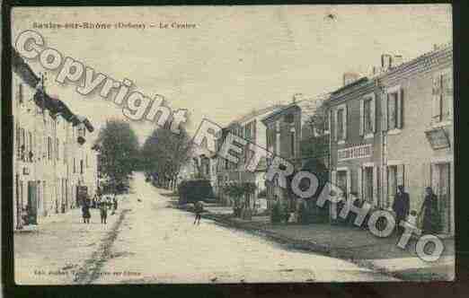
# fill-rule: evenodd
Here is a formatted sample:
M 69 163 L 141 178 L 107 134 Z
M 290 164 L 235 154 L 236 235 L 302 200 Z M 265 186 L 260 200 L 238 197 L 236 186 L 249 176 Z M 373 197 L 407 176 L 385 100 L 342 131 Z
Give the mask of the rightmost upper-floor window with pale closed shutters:
M 453 110 L 453 74 L 447 70 L 433 76 L 433 121 L 451 119 Z

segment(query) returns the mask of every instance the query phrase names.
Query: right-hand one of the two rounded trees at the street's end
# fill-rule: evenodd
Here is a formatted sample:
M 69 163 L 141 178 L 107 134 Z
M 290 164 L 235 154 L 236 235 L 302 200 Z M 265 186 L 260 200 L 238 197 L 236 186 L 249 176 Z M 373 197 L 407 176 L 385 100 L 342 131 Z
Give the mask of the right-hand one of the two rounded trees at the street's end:
M 156 128 L 141 150 L 142 164 L 146 172 L 156 177 L 156 183 L 175 189 L 181 166 L 190 160 L 192 145 L 184 129 L 174 134 L 164 127 Z

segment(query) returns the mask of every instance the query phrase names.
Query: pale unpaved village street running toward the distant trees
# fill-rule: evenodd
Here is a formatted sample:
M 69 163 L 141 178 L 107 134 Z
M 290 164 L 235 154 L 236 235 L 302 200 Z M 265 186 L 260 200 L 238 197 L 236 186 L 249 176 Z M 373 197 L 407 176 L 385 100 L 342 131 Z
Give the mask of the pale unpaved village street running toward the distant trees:
M 367 268 L 287 250 L 173 208 L 167 190 L 134 173 L 107 225 L 74 210 L 39 232 L 16 233 L 16 276 L 24 284 L 255 283 L 390 280 Z

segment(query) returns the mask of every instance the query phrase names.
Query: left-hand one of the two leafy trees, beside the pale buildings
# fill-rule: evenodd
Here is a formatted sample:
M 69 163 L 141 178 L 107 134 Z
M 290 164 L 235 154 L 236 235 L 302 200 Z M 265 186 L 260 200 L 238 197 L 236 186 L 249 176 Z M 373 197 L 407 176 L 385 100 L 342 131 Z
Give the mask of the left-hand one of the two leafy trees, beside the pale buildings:
M 138 141 L 127 122 L 108 120 L 102 127 L 95 147 L 100 156 L 100 173 L 107 178 L 111 192 L 122 190 L 137 161 Z

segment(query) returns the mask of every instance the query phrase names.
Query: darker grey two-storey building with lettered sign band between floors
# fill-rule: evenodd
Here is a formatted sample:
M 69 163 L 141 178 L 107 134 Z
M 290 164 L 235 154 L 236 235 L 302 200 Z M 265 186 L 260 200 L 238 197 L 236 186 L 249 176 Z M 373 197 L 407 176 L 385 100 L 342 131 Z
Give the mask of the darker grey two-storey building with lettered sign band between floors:
M 344 197 L 353 193 L 374 206 L 382 205 L 379 96 L 377 81 L 363 77 L 332 92 L 329 101 L 331 181 Z

